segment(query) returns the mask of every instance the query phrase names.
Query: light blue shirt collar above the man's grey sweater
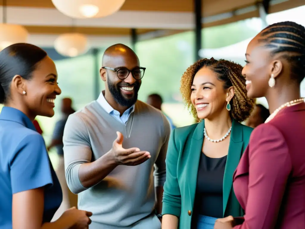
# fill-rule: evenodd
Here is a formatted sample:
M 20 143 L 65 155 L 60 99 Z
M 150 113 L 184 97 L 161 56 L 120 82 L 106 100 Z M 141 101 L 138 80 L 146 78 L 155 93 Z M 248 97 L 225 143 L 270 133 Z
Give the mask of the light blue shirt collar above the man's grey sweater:
M 111 116 L 113 116 L 114 118 L 116 118 L 118 121 L 122 122 L 123 124 L 126 124 L 130 114 L 132 112 L 135 111 L 135 105 L 132 105 L 131 107 L 129 107 L 122 116 L 120 116 L 120 112 L 117 110 L 114 110 L 110 104 L 106 101 L 103 93 L 101 92 L 99 94 L 99 98 L 96 100 L 99 105 L 101 105 L 101 107 Z

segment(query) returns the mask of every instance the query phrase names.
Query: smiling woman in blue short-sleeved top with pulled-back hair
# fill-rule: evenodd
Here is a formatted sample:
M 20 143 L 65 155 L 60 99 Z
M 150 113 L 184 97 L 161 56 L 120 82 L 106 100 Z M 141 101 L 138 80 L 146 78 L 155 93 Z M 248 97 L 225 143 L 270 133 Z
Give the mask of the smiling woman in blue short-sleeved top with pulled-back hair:
M 0 52 L 0 228 L 88 228 L 92 213 L 67 210 L 50 223 L 62 190 L 37 115 L 52 117 L 61 93 L 54 62 L 37 46 L 20 43 Z

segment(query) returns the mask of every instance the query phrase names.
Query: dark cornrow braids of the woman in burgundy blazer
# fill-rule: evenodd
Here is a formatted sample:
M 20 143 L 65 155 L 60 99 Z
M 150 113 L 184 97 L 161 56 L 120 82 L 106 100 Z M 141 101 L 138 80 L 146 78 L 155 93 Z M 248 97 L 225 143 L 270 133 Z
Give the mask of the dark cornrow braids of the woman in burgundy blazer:
M 260 33 L 260 42 L 271 48 L 271 55 L 281 53 L 291 63 L 292 77 L 301 83 L 305 77 L 305 28 L 295 22 L 279 22 Z

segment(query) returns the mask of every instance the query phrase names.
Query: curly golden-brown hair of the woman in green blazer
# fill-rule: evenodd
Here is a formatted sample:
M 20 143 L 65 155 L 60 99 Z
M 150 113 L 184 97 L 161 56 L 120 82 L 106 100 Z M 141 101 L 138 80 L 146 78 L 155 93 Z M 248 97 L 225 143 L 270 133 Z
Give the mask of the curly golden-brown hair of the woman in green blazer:
M 192 84 L 195 74 L 203 67 L 209 67 L 217 75 L 218 79 L 224 82 L 224 89 L 233 86 L 235 95 L 230 101 L 231 111 L 230 116 L 238 122 L 245 121 L 251 114 L 255 99 L 249 99 L 246 91 L 246 79 L 242 76 L 242 66 L 228 60 L 201 59 L 192 64 L 181 78 L 180 91 L 186 107 L 190 109 L 191 114 L 199 122 L 196 108 L 191 101 Z

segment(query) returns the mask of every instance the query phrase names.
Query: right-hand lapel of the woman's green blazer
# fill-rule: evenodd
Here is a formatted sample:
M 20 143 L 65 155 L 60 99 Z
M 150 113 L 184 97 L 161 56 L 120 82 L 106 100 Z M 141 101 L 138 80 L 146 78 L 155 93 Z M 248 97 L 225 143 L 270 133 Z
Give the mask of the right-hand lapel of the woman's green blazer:
M 223 180 L 223 215 L 225 213 L 228 199 L 231 193 L 233 184 L 233 173 L 239 163 L 242 155 L 242 124 L 233 119 L 232 130 L 230 135 L 230 144 L 226 166 L 224 169 Z

